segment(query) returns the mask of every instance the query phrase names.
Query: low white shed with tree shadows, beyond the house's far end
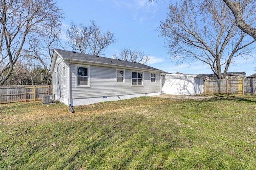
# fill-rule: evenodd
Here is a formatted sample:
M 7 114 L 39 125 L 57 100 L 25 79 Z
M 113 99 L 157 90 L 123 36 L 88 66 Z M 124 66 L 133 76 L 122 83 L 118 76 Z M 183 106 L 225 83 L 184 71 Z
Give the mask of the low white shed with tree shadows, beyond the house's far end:
M 204 92 L 204 76 L 182 73 L 162 76 L 164 76 L 162 93 L 193 96 Z

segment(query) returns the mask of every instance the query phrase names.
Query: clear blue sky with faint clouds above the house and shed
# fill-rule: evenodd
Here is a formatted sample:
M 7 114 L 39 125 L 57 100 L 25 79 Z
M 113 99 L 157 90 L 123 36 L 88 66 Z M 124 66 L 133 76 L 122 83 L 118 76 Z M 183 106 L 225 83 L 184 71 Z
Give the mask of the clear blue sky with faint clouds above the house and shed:
M 212 73 L 208 66 L 200 62 L 184 63 L 176 66 L 165 47 L 164 37 L 156 31 L 160 21 L 166 18 L 168 5 L 176 0 L 56 0 L 66 17 L 62 23 L 69 25 L 84 23 L 90 25 L 94 20 L 103 32 L 110 30 L 118 41 L 104 50 L 104 57 L 110 57 L 123 48 L 138 48 L 150 55 L 146 63 L 152 67 L 170 73 L 185 74 Z M 230 64 L 228 72 L 246 72 L 246 76 L 254 74 L 254 59 L 237 59 Z

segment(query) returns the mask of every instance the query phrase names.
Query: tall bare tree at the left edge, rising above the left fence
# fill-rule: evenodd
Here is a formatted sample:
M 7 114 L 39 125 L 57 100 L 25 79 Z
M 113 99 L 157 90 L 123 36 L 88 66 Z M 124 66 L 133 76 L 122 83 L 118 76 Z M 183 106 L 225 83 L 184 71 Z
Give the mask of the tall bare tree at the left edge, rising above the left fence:
M 53 0 L 0 0 L 0 85 L 20 57 L 30 51 L 28 41 L 48 31 L 44 25 L 61 15 Z

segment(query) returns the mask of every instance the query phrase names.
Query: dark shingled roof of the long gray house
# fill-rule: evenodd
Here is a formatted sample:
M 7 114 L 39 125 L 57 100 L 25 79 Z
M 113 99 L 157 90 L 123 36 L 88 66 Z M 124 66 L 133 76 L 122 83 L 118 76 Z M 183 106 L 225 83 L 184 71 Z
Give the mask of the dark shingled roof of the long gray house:
M 77 62 L 83 62 L 83 63 L 89 62 L 89 63 L 97 63 L 97 64 L 108 64 L 108 65 L 114 65 L 114 66 L 134 67 L 134 68 L 150 69 L 150 70 L 156 70 L 156 71 L 163 72 L 162 70 L 159 70 L 159 69 L 151 67 L 151 66 L 147 66 L 145 64 L 116 60 L 116 59 L 111 59 L 111 58 L 107 58 L 107 57 L 98 57 L 98 56 L 88 55 L 88 54 L 83 54 L 83 53 L 74 53 L 72 51 L 66 51 L 66 50 L 60 50 L 60 49 L 54 49 L 54 50 L 64 59 L 64 61 L 77 61 Z

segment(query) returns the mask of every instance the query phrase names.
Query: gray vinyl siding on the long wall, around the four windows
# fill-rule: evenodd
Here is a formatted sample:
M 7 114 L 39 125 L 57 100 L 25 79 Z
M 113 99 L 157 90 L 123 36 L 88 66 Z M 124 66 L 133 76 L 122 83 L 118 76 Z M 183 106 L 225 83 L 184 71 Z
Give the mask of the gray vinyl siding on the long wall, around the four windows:
M 143 71 L 144 86 L 132 86 L 132 70 L 125 69 L 125 84 L 116 84 L 116 68 L 90 66 L 90 87 L 76 87 L 75 64 L 70 69 L 73 99 L 160 92 L 160 73 L 156 73 L 156 83 L 151 83 L 150 72 Z

